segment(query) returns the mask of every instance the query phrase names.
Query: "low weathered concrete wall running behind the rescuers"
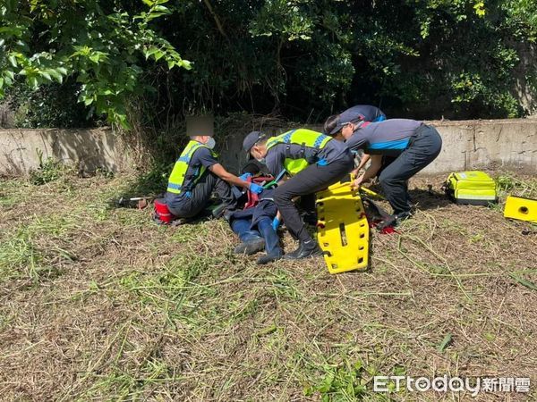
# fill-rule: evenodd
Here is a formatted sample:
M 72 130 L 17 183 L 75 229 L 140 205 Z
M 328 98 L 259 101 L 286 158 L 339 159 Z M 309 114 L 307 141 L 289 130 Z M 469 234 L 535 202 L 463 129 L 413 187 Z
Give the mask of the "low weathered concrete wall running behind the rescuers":
M 537 119 L 428 123 L 437 127 L 444 147 L 423 173 L 491 165 L 537 173 Z M 221 145 L 221 161 L 232 172 L 238 172 L 245 162 L 241 148 L 245 134 L 228 137 Z M 0 130 L 0 175 L 23 175 L 38 168 L 38 150 L 44 158 L 53 156 L 87 172 L 98 168 L 122 171 L 132 166 L 128 147 L 110 129 Z

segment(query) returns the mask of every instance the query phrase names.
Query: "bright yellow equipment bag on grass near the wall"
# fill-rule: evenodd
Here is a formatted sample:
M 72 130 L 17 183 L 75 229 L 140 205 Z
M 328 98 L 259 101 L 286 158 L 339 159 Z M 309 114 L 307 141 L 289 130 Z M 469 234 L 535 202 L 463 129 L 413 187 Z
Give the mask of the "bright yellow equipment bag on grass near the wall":
M 498 202 L 496 181 L 485 172 L 451 173 L 444 188 L 456 204 L 490 205 Z

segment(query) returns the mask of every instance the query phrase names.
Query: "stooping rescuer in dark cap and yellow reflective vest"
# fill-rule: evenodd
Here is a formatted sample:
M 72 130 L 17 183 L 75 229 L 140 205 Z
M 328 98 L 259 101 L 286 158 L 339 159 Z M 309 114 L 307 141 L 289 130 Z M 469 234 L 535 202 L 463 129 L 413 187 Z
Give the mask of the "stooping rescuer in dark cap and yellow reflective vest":
M 353 156 L 345 144 L 316 131 L 299 129 L 271 138 L 253 131 L 244 138 L 243 148 L 261 163 L 266 163 L 268 171 L 275 177 L 284 170 L 291 176 L 274 193 L 274 202 L 287 229 L 300 242 L 299 247 L 284 258 L 321 255 L 320 247 L 304 227 L 293 199 L 327 188 L 353 169 Z

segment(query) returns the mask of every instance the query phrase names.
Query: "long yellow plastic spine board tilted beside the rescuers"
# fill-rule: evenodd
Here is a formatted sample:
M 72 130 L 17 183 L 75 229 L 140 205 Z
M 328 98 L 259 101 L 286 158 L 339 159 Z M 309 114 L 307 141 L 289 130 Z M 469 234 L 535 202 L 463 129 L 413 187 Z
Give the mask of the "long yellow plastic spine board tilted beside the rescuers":
M 364 271 L 369 264 L 369 224 L 362 198 L 350 182 L 317 194 L 317 240 L 328 272 Z

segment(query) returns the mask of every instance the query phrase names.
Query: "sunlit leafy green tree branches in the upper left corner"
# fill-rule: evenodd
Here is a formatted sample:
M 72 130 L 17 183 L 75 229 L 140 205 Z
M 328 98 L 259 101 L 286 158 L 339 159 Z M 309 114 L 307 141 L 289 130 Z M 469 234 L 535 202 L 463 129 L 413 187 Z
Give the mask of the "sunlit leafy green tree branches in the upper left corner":
M 98 0 L 4 0 L 0 6 L 0 96 L 24 76 L 30 88 L 74 75 L 79 100 L 128 128 L 125 104 L 140 92 L 144 59 L 190 69 L 150 28 L 170 13 L 168 0 L 138 4 Z M 128 10 L 128 11 L 127 11 Z

